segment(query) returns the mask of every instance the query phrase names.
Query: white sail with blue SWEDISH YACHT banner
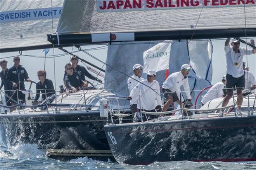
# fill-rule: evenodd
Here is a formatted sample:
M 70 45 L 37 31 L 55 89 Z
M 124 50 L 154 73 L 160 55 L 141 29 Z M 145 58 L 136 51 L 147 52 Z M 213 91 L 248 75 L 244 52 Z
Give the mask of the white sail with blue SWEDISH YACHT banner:
M 44 48 L 56 31 L 64 0 L 0 1 L 0 51 Z

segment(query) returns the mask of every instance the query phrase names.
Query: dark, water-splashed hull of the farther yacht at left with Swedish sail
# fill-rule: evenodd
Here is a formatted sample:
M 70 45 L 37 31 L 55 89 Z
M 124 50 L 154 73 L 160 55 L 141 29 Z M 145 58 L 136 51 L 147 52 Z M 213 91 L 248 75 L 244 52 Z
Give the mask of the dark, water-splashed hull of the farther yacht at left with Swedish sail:
M 131 122 L 131 118 L 123 122 Z M 99 112 L 0 115 L 3 143 L 36 144 L 47 150 L 49 157 L 60 160 L 82 156 L 114 160 L 104 133 L 105 124 L 106 118 L 101 118 Z

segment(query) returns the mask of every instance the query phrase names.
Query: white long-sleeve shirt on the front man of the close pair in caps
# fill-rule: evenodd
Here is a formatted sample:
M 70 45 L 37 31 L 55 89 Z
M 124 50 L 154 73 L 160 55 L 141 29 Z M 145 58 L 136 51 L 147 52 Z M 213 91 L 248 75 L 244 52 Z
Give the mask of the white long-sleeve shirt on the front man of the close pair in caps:
M 143 85 L 142 83 L 151 87 L 153 90 Z M 140 99 L 138 99 L 139 96 Z M 148 82 L 147 80 L 142 80 L 141 83 L 138 83 L 131 90 L 130 97 L 138 99 L 138 109 L 141 108 L 145 110 L 153 110 L 156 108 L 157 105 L 162 105 L 160 87 L 159 83 L 156 80 L 154 80 L 154 82 L 152 83 Z

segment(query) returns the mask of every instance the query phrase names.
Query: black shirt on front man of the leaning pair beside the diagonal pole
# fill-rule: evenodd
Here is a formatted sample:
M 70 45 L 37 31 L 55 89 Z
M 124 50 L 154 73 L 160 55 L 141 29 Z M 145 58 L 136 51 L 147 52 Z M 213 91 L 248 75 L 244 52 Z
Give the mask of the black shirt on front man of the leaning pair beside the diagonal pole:
M 71 86 L 76 88 L 83 85 L 83 80 L 77 72 L 73 72 L 73 75 L 67 74 L 64 78 L 64 82 L 66 83 L 67 88 L 69 89 L 71 89 Z

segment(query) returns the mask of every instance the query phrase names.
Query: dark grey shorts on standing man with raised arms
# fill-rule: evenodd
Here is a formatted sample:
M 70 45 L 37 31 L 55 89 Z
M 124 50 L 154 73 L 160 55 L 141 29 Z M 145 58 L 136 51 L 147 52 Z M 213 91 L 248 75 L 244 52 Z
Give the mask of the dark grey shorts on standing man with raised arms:
M 244 87 L 245 87 L 244 75 L 238 78 L 235 78 L 232 75 L 227 74 L 226 78 L 227 78 L 227 83 L 226 83 L 227 92 L 232 92 L 232 88 L 234 87 L 244 90 Z

